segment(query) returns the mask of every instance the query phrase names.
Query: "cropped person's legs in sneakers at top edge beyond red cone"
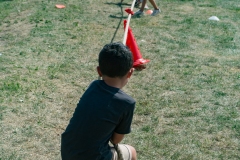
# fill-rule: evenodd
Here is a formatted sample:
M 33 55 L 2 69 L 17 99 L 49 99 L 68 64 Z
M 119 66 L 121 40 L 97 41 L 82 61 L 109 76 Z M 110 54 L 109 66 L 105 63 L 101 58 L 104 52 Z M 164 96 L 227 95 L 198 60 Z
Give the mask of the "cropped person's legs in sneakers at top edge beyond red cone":
M 137 2 L 141 2 L 142 1 L 142 6 L 140 8 L 140 10 L 138 10 L 137 12 L 135 12 L 133 15 L 134 16 L 142 16 L 144 15 L 144 7 L 147 3 L 147 0 L 137 0 Z M 156 5 L 154 0 L 149 0 L 149 2 L 152 4 L 154 10 L 153 13 L 151 14 L 152 16 L 156 16 L 157 14 L 159 14 L 161 12 L 161 10 L 158 8 L 158 6 Z M 136 3 L 135 3 L 136 4 Z

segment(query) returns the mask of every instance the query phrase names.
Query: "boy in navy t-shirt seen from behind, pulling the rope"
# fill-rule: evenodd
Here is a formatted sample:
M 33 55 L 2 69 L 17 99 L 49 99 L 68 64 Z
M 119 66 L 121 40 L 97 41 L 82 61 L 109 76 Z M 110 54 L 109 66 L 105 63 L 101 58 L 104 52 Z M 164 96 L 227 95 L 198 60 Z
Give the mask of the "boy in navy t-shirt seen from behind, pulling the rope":
M 63 160 L 118 160 L 109 141 L 118 144 L 130 133 L 135 100 L 123 88 L 134 69 L 131 51 L 122 43 L 104 46 L 93 81 L 82 95 L 61 139 Z M 130 145 L 119 144 L 124 159 L 136 160 Z

